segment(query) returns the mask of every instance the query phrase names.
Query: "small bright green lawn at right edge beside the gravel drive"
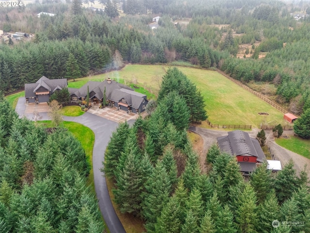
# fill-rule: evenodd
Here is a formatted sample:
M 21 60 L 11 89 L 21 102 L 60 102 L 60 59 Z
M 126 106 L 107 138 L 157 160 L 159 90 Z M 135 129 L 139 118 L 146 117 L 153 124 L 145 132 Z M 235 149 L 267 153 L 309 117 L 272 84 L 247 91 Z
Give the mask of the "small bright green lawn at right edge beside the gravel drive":
M 302 139 L 296 136 L 289 138 L 278 138 L 276 143 L 287 150 L 291 150 L 310 159 L 310 139 Z

